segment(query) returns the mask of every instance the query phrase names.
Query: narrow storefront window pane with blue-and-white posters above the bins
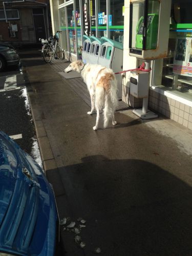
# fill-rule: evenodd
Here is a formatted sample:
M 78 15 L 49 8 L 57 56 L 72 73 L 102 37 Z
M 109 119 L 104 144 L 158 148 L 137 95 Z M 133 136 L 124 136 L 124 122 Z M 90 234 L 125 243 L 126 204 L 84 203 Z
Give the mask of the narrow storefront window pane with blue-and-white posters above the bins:
M 98 0 L 98 37 L 106 37 L 106 0 Z

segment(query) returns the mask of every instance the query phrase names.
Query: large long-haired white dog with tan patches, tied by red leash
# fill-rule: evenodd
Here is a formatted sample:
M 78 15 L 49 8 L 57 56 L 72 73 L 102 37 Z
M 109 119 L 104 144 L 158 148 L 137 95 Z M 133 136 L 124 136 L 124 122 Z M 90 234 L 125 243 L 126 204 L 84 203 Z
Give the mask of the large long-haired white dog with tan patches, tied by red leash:
M 114 113 L 118 104 L 117 99 L 117 81 L 113 70 L 95 64 L 84 64 L 77 60 L 72 62 L 64 71 L 77 71 L 81 73 L 83 81 L 87 84 L 91 96 L 91 111 L 89 115 L 93 114 L 94 109 L 97 111 L 96 124 L 93 130 L 97 130 L 99 123 L 99 112 L 103 109 L 104 128 L 108 125 L 111 117 L 112 124 L 115 125 Z

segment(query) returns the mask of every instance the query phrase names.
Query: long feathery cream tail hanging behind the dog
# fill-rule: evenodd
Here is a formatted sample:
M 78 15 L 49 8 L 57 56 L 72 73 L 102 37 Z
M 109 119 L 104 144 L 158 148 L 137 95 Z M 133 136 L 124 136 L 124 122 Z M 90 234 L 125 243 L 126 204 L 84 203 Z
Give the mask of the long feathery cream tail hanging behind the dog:
M 114 115 L 115 109 L 118 105 L 118 98 L 117 98 L 117 80 L 111 80 L 111 87 L 109 88 L 108 92 L 105 92 L 104 98 L 104 128 L 108 125 L 110 118 Z

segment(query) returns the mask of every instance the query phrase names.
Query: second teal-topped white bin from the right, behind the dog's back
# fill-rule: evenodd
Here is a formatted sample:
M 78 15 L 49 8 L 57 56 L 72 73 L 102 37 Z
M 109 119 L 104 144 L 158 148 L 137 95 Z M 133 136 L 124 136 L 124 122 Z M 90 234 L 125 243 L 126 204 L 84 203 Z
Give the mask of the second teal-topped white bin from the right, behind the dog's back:
M 101 49 L 101 40 L 95 36 L 90 36 L 91 50 L 89 60 L 92 64 L 98 64 L 99 53 Z

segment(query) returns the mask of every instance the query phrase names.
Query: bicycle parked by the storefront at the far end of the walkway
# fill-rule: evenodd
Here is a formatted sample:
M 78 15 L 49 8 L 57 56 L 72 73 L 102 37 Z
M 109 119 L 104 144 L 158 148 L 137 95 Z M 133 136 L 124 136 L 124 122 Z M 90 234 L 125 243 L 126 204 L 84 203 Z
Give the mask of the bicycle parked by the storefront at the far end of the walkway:
M 58 44 L 59 33 L 62 33 L 62 31 L 57 31 L 55 35 L 51 35 L 48 40 L 39 38 L 42 44 L 42 57 L 47 63 L 51 62 L 53 56 L 56 56 L 58 59 L 64 59 L 65 57 L 63 50 Z

